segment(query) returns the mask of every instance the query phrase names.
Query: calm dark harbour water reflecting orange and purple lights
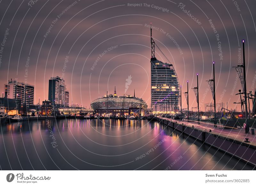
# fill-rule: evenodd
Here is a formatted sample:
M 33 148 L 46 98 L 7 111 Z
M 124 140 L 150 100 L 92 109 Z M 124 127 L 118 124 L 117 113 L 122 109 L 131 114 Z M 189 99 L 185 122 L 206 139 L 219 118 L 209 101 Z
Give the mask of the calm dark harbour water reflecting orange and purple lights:
M 39 120 L 4 124 L 2 170 L 252 170 L 147 120 Z M 139 158 L 140 157 L 140 158 Z

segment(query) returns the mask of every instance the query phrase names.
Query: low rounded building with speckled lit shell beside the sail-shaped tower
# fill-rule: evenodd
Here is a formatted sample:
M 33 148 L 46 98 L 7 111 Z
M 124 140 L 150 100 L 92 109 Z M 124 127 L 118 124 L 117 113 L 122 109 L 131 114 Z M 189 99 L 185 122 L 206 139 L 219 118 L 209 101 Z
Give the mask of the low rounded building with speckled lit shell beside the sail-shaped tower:
M 124 109 L 123 109 L 124 104 Z M 147 109 L 147 103 L 138 97 L 127 95 L 117 96 L 115 94 L 105 95 L 101 98 L 95 99 L 91 103 L 91 107 L 97 115 L 110 113 L 111 115 L 143 115 L 145 109 Z

